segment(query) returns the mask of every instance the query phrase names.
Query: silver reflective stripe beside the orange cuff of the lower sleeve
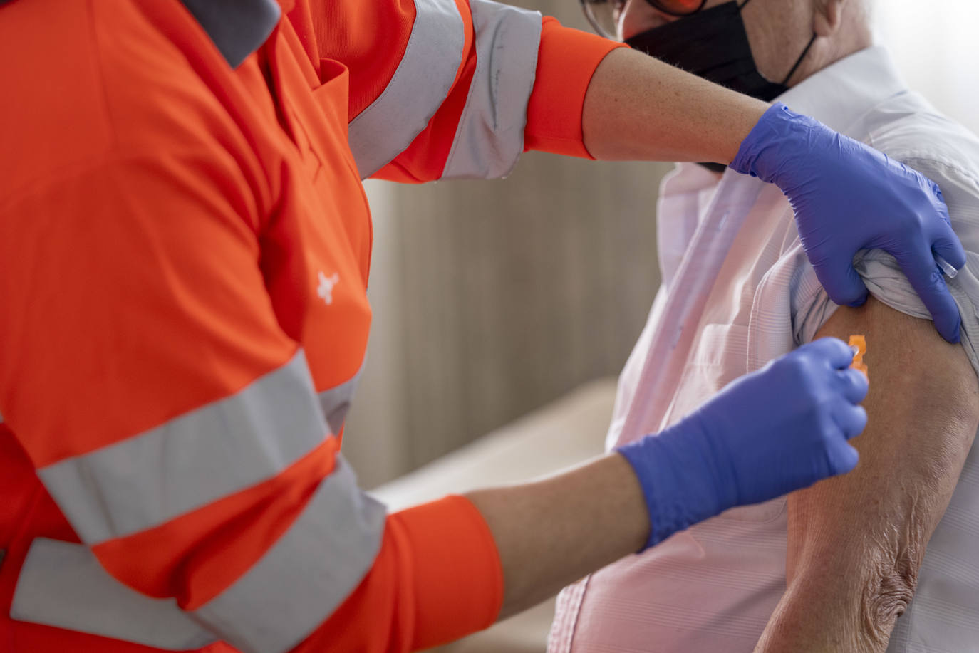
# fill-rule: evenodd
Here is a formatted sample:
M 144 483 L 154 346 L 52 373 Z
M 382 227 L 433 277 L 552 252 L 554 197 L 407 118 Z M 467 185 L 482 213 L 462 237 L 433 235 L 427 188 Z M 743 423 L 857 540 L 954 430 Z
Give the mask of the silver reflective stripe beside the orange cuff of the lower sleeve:
M 343 457 L 303 515 L 245 576 L 194 612 L 244 653 L 284 653 L 356 588 L 381 548 L 386 511 Z

